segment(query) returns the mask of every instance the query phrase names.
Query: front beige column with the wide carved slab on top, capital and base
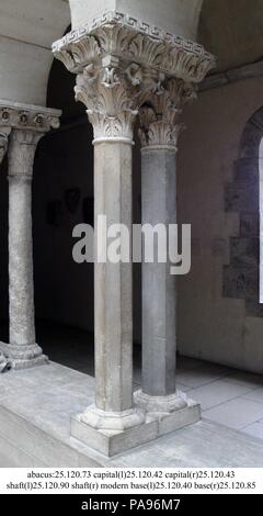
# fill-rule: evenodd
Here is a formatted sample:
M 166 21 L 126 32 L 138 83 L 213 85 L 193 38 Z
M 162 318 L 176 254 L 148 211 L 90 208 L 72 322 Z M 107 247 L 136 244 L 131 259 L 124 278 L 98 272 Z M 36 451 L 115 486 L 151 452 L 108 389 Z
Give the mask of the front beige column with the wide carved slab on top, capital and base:
M 77 75 L 76 98 L 94 128 L 95 233 L 132 229 L 133 125 L 165 76 L 202 80 L 213 58 L 203 47 L 119 12 L 67 34 L 54 55 Z M 172 153 L 162 160 L 172 159 Z M 162 164 L 163 165 L 163 161 Z M 169 165 L 170 168 L 170 165 Z M 172 186 L 172 184 L 171 184 Z M 133 404 L 132 263 L 95 263 L 95 403 L 72 419 L 71 435 L 106 455 L 159 434 L 159 420 Z

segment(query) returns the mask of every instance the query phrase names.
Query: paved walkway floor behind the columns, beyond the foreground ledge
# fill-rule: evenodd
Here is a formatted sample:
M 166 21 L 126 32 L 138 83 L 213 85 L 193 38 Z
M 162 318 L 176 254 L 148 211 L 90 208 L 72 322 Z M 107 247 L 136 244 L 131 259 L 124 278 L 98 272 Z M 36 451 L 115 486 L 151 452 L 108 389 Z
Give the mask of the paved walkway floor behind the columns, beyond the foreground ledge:
M 92 336 L 73 328 L 43 326 L 41 341 L 57 362 L 93 375 Z M 140 351 L 135 347 L 135 388 L 140 384 Z M 186 357 L 178 359 L 178 388 L 202 405 L 203 417 L 263 439 L 263 375 Z

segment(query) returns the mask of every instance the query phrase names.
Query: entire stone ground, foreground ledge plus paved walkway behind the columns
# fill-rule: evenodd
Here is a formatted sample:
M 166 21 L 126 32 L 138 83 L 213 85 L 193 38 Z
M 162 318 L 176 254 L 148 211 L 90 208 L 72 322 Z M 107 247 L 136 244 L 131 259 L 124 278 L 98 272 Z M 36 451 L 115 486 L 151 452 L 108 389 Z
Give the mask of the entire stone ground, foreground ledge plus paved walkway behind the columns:
M 52 363 L 0 375 L 0 467 L 50 465 L 50 461 L 57 467 L 263 467 L 262 375 L 179 357 L 178 388 L 202 404 L 203 420 L 105 459 L 69 437 L 70 416 L 93 399 L 92 337 L 45 325 L 38 340 L 54 362 L 67 367 Z M 135 347 L 134 389 L 139 384 L 140 352 Z M 16 448 L 21 424 L 25 437 Z M 21 449 L 24 442 L 26 452 Z

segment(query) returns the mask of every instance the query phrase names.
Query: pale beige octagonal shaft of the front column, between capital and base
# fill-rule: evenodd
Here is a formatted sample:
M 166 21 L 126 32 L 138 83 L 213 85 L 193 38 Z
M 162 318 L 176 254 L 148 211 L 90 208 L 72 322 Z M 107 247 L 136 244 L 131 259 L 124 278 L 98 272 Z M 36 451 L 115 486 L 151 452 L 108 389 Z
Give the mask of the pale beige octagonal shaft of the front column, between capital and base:
M 94 146 L 95 233 L 101 215 L 107 227 L 132 229 L 132 142 Z M 133 405 L 132 262 L 95 263 L 96 406 L 122 412 Z

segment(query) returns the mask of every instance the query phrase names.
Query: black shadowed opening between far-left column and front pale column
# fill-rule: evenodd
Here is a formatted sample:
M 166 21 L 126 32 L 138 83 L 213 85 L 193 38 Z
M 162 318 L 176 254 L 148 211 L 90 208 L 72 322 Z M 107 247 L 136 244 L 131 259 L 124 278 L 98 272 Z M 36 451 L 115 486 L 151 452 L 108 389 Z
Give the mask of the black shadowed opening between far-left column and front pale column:
M 34 168 L 36 333 L 52 360 L 93 373 L 93 266 L 72 259 L 73 227 L 93 224 L 92 127 L 73 86 L 54 60 L 47 105 L 62 110 L 61 125 L 42 139 Z

